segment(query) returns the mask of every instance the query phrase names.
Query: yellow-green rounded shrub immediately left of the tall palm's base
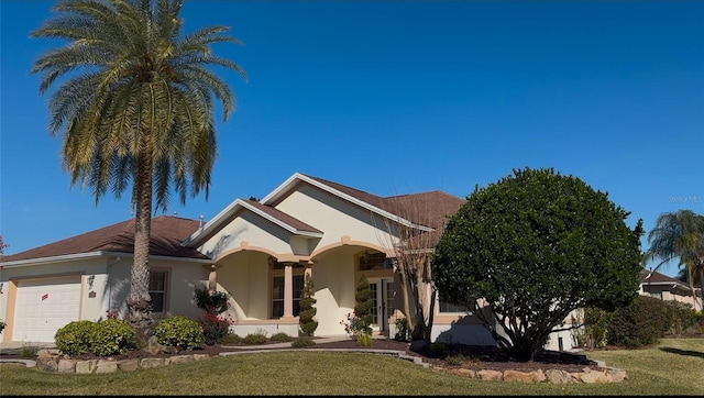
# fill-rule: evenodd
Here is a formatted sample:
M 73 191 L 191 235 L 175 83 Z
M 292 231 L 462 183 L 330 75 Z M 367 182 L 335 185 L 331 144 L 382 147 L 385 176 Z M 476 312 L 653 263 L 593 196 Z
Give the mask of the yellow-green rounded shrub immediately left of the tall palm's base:
M 106 319 L 89 333 L 90 351 L 98 356 L 125 353 L 136 346 L 136 332 L 127 321 Z

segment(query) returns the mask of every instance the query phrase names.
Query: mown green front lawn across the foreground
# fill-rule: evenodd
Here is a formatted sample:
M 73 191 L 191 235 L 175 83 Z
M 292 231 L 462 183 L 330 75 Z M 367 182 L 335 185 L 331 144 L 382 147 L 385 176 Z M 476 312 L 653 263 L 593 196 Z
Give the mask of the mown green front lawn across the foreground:
M 663 339 L 652 349 L 590 352 L 623 368 L 623 383 L 525 384 L 449 375 L 386 355 L 272 352 L 112 374 L 55 374 L 0 365 L 11 395 L 702 395 L 704 339 Z

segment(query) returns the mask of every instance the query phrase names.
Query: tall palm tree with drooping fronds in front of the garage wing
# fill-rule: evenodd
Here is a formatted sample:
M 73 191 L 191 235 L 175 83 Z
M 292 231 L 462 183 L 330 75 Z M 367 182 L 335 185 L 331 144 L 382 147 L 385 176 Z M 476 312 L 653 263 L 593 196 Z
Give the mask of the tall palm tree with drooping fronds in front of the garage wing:
M 241 44 L 227 26 L 182 32 L 180 0 L 58 0 L 56 15 L 31 37 L 68 43 L 42 55 L 40 92 L 48 102 L 50 134 L 63 133 L 63 167 L 70 186 L 89 186 L 96 206 L 132 183 L 134 263 L 125 318 L 152 323 L 148 248 L 153 204 L 166 211 L 172 190 L 182 203 L 210 186 L 216 159 L 213 96 L 223 120 L 234 110 L 230 88 L 207 67 L 234 70 L 210 44 Z M 64 77 L 58 82 L 58 78 Z M 155 201 L 153 203 L 153 200 Z

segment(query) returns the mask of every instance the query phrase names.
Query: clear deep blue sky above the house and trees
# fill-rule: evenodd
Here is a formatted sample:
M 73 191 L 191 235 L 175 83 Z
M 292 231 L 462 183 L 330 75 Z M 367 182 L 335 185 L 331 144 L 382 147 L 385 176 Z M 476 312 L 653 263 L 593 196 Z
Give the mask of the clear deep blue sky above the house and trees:
M 69 187 L 30 40 L 53 1 L 2 0 L 0 234 L 19 253 L 131 218 L 129 192 Z M 217 54 L 238 98 L 218 112 L 208 221 L 296 172 L 380 196 L 458 197 L 553 167 L 644 220 L 704 213 L 704 2 L 198 1 L 186 32 L 232 27 Z M 644 250 L 647 241 L 644 237 Z M 676 274 L 676 266 L 662 269 Z

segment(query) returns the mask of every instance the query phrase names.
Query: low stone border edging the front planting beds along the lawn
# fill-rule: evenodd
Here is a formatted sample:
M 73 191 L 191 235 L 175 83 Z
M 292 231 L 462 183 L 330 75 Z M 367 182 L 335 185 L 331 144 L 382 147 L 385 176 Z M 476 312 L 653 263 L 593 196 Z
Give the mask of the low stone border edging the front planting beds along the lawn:
M 598 369 L 584 367 L 582 372 L 565 372 L 560 369 L 538 369 L 534 372 L 519 372 L 507 369 L 504 372 L 483 369 L 473 371 L 465 368 L 443 368 L 431 366 L 424 363 L 421 357 L 411 356 L 403 351 L 396 350 L 375 350 L 375 349 L 283 349 L 283 350 L 243 350 L 233 351 L 228 353 L 220 353 L 219 356 L 229 356 L 237 354 L 253 354 L 264 353 L 272 351 L 329 351 L 329 352 L 361 352 L 381 355 L 397 356 L 402 360 L 410 361 L 422 367 L 432 367 L 436 371 L 446 372 L 452 375 L 475 378 L 482 380 L 504 380 L 504 382 L 519 382 L 519 383 L 553 383 L 553 384 L 570 384 L 570 383 L 587 383 L 587 384 L 601 384 L 601 383 L 620 383 L 628 378 L 625 371 L 615 367 L 607 367 L 604 363 L 600 363 Z M 100 358 L 100 360 L 70 360 L 66 358 L 57 350 L 42 350 L 38 353 L 36 361 L 32 360 L 0 360 L 0 363 L 23 364 L 26 367 L 37 367 L 44 372 L 57 372 L 57 373 L 76 373 L 76 374 L 92 374 L 92 373 L 113 373 L 118 371 L 131 372 L 139 368 L 153 368 L 167 366 L 170 364 L 178 364 L 193 361 L 207 361 L 213 358 L 208 354 L 185 354 L 173 355 L 170 357 L 147 357 L 142 360 L 120 360 L 114 358 Z

